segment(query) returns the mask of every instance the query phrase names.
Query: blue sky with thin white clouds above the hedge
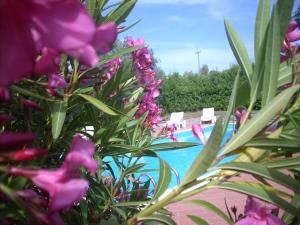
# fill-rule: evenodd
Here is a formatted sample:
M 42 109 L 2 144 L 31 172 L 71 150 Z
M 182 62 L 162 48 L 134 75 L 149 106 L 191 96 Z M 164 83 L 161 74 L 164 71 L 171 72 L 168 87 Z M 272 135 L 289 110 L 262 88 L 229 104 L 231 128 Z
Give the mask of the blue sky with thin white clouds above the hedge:
M 297 5 L 299 2 L 296 0 Z M 167 74 L 196 72 L 197 49 L 201 51 L 201 65 L 223 70 L 236 63 L 224 17 L 231 21 L 253 58 L 257 5 L 258 0 L 138 0 L 126 24 L 142 21 L 123 36 L 143 37 Z

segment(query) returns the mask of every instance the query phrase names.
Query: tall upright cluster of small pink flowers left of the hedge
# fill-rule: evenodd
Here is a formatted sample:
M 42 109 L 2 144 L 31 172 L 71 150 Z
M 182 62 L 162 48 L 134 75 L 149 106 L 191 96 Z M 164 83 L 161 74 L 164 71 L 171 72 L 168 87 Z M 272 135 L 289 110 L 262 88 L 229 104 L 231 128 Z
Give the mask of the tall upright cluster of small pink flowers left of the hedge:
M 146 125 L 149 127 L 156 126 L 161 121 L 161 109 L 155 102 L 155 99 L 160 95 L 158 87 L 161 80 L 156 80 L 156 73 L 152 68 L 152 57 L 144 44 L 144 40 L 139 38 L 134 41 L 133 38 L 129 37 L 126 42 L 129 46 L 141 46 L 140 49 L 132 53 L 134 73 L 140 85 L 146 90 L 141 98 L 136 117 L 139 118 L 147 112 Z

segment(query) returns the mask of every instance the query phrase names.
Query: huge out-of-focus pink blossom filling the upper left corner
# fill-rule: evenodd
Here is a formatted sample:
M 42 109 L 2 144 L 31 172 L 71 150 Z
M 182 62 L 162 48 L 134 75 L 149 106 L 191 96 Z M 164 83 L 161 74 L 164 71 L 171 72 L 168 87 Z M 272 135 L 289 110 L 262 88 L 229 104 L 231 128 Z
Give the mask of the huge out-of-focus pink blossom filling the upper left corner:
M 108 52 L 117 37 L 114 23 L 96 27 L 78 0 L 2 0 L 0 32 L 3 100 L 9 98 L 7 87 L 23 77 L 54 72 L 61 53 L 96 65 L 96 52 Z

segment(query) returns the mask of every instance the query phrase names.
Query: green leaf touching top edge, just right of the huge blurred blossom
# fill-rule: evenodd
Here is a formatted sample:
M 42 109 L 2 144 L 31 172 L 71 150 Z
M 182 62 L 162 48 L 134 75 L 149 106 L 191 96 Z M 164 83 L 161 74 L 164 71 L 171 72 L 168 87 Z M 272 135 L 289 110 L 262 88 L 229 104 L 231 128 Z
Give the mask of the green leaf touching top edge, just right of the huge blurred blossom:
M 106 17 L 105 22 L 115 22 L 117 25 L 122 23 L 134 8 L 136 0 L 125 0 L 115 10 L 111 11 Z

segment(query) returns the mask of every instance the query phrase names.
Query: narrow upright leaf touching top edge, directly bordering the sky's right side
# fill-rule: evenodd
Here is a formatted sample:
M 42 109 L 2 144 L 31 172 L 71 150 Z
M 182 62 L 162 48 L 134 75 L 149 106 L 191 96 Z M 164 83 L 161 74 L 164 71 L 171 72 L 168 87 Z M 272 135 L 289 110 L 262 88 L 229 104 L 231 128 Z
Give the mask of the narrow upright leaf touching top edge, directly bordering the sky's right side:
M 270 18 L 270 0 L 260 0 L 255 22 L 255 59 L 258 60 L 258 52 L 263 42 Z

